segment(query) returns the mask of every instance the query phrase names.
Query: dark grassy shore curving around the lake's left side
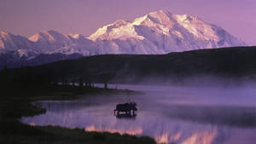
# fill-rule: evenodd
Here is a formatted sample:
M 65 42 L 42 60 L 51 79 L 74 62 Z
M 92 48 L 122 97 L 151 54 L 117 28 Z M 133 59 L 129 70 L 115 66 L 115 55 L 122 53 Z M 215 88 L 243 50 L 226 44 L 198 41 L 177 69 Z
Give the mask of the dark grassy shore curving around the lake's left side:
M 134 94 L 135 91 L 78 86 L 30 86 L 22 89 L 3 89 L 0 102 L 0 143 L 90 143 L 90 144 L 154 144 L 148 136 L 86 132 L 58 126 L 31 126 L 20 123 L 22 116 L 44 113 L 45 109 L 32 106 L 32 101 L 55 101 L 78 99 L 80 95 Z

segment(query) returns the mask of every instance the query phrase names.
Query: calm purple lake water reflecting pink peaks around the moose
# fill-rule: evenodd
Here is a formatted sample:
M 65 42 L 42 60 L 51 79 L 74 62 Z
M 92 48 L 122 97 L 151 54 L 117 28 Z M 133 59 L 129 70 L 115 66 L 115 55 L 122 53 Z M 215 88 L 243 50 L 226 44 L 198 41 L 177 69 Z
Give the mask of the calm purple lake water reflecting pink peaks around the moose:
M 116 85 L 110 85 L 115 88 Z M 40 101 L 47 112 L 21 121 L 87 131 L 148 135 L 158 143 L 255 144 L 256 90 L 117 85 L 140 95 L 91 95 L 75 101 Z M 137 116 L 117 118 L 118 103 L 137 102 Z

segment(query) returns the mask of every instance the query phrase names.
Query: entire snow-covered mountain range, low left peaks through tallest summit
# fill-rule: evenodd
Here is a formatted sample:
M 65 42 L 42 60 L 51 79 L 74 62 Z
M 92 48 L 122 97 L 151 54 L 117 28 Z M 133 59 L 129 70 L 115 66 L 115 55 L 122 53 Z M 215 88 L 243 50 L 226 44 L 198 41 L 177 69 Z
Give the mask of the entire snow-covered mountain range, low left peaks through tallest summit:
M 0 68 L 87 55 L 160 55 L 245 45 L 223 28 L 195 16 L 160 10 L 132 21 L 116 20 L 89 37 L 43 31 L 26 38 L 0 30 Z

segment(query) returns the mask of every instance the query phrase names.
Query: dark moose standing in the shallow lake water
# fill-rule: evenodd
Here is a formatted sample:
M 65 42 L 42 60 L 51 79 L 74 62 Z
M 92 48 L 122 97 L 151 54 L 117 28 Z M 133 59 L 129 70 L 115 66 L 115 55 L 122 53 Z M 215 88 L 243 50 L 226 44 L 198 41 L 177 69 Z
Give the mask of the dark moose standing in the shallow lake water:
M 135 102 L 129 102 L 129 103 L 125 103 L 125 104 L 118 104 L 116 105 L 116 108 L 113 110 L 113 113 L 119 115 L 119 112 L 125 112 L 125 114 L 135 114 L 135 111 L 137 111 L 137 103 Z

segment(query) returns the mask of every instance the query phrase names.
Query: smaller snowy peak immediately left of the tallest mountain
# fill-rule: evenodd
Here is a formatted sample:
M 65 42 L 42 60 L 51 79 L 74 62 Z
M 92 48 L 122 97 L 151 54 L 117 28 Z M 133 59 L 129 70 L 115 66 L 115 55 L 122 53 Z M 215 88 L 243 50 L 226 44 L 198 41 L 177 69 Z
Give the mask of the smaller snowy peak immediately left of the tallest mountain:
M 80 34 L 64 35 L 55 31 L 39 32 L 29 37 L 29 40 L 43 54 L 90 55 L 90 51 L 93 51 L 91 49 L 96 48 L 96 43 Z

